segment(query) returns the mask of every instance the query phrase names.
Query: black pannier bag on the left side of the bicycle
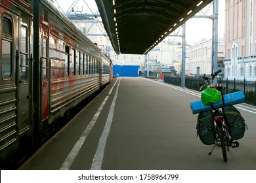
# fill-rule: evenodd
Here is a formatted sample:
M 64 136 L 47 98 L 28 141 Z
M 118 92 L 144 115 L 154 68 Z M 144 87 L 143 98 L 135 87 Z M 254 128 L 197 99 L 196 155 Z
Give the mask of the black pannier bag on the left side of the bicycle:
M 214 143 L 214 125 L 211 110 L 205 110 L 198 114 L 196 129 L 203 144 L 211 145 Z

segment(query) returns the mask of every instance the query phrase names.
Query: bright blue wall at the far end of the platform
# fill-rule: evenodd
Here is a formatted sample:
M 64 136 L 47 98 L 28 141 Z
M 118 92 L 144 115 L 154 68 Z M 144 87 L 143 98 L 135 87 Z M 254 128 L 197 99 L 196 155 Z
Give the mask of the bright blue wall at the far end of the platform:
M 139 65 L 114 65 L 113 74 L 119 77 L 138 77 L 139 76 Z

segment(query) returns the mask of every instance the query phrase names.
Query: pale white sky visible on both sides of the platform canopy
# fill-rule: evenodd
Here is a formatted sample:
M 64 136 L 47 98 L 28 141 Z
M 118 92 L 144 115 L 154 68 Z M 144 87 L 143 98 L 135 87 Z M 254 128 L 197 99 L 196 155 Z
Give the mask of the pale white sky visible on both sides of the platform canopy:
M 91 14 L 92 12 L 97 12 L 98 8 L 94 0 L 69 0 L 67 3 L 66 0 L 54 0 L 57 1 L 62 10 L 66 12 L 72 5 L 75 10 L 83 11 L 87 14 Z M 74 3 L 77 3 L 74 5 Z M 86 3 L 86 4 L 85 4 Z M 56 4 L 56 3 L 55 3 Z M 224 36 L 224 0 L 219 0 L 219 37 Z M 207 11 L 203 10 L 201 14 Z M 212 14 L 212 7 L 210 8 L 207 15 Z M 186 43 L 193 45 L 194 43 L 201 41 L 202 39 L 212 39 L 212 24 L 213 21 L 207 18 L 190 18 L 186 22 Z M 179 28 L 178 28 L 179 29 Z M 177 29 L 177 30 L 178 30 Z M 181 29 L 182 33 L 182 29 Z M 180 35 L 180 32 L 176 34 Z M 175 38 L 173 38 L 175 39 Z

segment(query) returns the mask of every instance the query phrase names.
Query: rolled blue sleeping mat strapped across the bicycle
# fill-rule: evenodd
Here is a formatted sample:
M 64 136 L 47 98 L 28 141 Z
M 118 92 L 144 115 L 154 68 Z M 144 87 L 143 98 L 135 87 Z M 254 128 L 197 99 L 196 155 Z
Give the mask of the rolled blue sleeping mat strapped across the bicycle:
M 223 95 L 224 98 L 224 106 L 226 105 L 235 105 L 238 103 L 243 103 L 245 99 L 244 92 L 234 92 L 234 93 L 228 93 Z M 220 108 L 223 106 L 223 100 L 218 101 L 217 103 L 213 104 L 213 107 Z M 202 101 L 194 101 L 190 103 L 190 108 L 192 110 L 192 114 L 200 113 L 204 110 L 211 110 L 211 106 L 209 105 L 203 105 Z

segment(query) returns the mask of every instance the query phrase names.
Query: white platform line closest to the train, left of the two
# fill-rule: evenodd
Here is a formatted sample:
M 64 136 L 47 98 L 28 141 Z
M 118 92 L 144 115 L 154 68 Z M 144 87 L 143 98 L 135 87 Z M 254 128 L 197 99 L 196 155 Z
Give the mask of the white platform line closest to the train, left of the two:
M 119 78 L 117 79 L 117 81 L 119 80 Z M 87 136 L 89 135 L 91 129 L 93 128 L 93 126 L 96 123 L 96 120 L 98 119 L 98 116 L 100 115 L 100 112 L 102 111 L 102 108 L 104 107 L 106 101 L 108 100 L 108 97 L 110 96 L 110 94 L 112 93 L 113 88 L 116 86 L 115 82 L 114 86 L 112 86 L 110 92 L 108 93 L 108 95 L 106 96 L 106 98 L 104 99 L 104 101 L 101 103 L 100 107 L 98 108 L 97 112 L 95 113 L 95 115 L 93 116 L 93 119 L 91 120 L 91 122 L 87 125 L 85 131 L 83 131 L 83 134 L 81 135 L 81 137 L 79 137 L 79 139 L 77 140 L 77 142 L 75 143 L 74 147 L 72 148 L 72 150 L 70 151 L 70 154 L 68 154 L 68 157 L 65 159 L 65 161 L 62 163 L 62 166 L 60 167 L 60 170 L 68 170 L 70 169 L 72 163 L 74 162 L 74 159 L 76 158 L 79 150 L 81 149 L 81 146 L 83 145 L 83 142 L 85 142 L 85 139 L 87 138 Z

